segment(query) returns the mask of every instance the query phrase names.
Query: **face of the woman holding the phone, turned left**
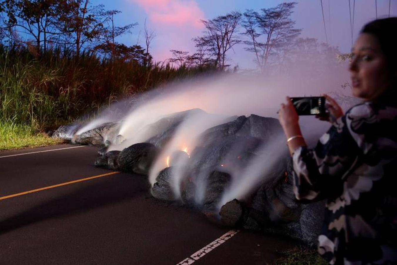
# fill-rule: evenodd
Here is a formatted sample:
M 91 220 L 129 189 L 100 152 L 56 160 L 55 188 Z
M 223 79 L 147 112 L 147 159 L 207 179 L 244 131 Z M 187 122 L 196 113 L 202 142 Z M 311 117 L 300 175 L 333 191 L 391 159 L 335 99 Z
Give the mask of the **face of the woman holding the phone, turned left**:
M 386 58 L 378 39 L 371 34 L 361 33 L 352 51 L 349 72 L 353 96 L 370 100 L 382 95 L 390 85 L 390 80 Z

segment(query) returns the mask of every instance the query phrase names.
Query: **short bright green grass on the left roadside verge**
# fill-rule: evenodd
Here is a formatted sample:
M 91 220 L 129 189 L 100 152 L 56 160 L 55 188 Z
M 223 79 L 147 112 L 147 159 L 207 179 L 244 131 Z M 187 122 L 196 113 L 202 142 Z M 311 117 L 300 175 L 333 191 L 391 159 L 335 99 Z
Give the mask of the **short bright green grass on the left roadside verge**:
M 37 133 L 28 125 L 11 123 L 0 125 L 0 150 L 47 146 L 63 143 L 60 139 L 50 138 L 45 133 Z

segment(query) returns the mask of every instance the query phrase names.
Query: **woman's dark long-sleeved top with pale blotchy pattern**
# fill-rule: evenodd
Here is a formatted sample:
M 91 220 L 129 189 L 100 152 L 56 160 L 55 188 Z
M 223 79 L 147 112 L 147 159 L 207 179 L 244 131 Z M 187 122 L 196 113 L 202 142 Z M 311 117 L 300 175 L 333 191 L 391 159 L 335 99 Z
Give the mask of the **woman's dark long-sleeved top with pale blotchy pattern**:
M 326 199 L 318 251 L 330 264 L 397 263 L 397 107 L 367 102 L 293 154 L 297 199 Z

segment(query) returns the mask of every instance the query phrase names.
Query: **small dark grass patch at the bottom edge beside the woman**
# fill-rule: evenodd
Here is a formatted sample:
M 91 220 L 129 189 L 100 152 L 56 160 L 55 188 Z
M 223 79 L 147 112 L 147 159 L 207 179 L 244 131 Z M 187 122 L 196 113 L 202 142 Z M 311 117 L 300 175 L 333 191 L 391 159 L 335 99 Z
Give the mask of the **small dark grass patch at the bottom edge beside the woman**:
M 326 265 L 328 264 L 320 254 L 314 249 L 308 249 L 304 247 L 295 247 L 293 249 L 287 249 L 280 253 L 282 257 L 279 257 L 274 261 L 276 265 Z

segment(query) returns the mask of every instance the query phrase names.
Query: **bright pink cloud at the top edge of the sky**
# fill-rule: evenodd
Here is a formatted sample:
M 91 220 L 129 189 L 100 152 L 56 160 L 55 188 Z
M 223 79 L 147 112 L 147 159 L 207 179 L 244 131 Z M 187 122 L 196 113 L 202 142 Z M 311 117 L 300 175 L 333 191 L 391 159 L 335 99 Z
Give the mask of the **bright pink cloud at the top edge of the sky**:
M 130 0 L 139 4 L 156 25 L 201 29 L 204 13 L 195 0 Z

